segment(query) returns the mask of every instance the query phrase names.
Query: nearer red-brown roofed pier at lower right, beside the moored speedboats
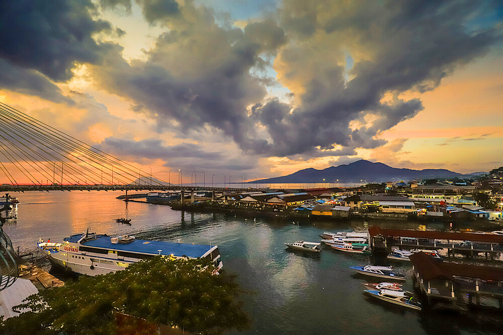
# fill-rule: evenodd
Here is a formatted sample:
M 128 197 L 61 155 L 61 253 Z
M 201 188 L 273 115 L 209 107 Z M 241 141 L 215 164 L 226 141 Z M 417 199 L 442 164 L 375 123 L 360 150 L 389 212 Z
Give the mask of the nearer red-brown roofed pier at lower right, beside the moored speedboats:
M 484 297 L 498 301 L 503 310 L 503 268 L 442 262 L 424 253 L 411 255 L 410 261 L 414 286 L 429 304 L 436 300 L 460 307 L 480 305 Z

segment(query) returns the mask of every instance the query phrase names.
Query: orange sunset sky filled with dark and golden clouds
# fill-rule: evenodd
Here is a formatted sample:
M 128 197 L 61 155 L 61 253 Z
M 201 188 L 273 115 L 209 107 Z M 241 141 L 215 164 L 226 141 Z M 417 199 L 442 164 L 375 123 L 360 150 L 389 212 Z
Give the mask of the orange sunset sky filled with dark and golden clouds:
M 0 101 L 164 180 L 503 165 L 497 1 L 17 0 L 0 31 Z

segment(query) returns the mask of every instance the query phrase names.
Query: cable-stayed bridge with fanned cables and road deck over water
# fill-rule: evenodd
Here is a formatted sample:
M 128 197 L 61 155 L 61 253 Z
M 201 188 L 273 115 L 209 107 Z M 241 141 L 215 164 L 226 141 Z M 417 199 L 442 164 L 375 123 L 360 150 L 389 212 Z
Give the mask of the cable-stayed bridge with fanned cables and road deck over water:
M 146 172 L 0 102 L 0 192 L 229 188 L 180 185 L 178 171 L 176 185 Z

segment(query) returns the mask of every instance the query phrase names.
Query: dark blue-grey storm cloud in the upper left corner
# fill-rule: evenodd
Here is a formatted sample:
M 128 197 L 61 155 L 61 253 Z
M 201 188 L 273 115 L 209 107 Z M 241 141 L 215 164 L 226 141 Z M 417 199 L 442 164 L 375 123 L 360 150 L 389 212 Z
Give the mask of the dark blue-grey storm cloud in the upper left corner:
M 0 85 L 61 102 L 51 81 L 72 77 L 76 63 L 99 64 L 113 45 L 93 35 L 113 30 L 93 19 L 89 0 L 18 0 L 0 2 Z

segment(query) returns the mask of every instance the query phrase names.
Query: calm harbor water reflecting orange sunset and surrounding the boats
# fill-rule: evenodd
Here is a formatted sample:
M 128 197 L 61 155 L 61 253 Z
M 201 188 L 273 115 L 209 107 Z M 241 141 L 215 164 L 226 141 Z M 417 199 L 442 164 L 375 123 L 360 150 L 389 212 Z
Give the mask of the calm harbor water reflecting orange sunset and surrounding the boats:
M 251 327 L 259 334 L 468 334 L 501 333 L 503 318 L 493 313 L 458 314 L 413 311 L 372 300 L 363 283 L 379 282 L 357 275 L 350 266 L 369 264 L 369 257 L 332 251 L 304 254 L 285 249 L 284 242 L 317 242 L 324 231 L 365 229 L 361 221 L 292 221 L 242 218 L 231 214 L 192 214 L 169 206 L 115 199 L 120 192 L 22 193 L 4 230 L 20 253 L 33 251 L 39 237 L 61 241 L 85 231 L 133 235 L 141 239 L 218 245 L 225 271 L 235 274 Z M 131 218 L 131 226 L 118 224 Z M 374 224 L 375 221 L 372 221 Z M 389 228 L 417 229 L 420 222 L 378 222 Z M 428 228 L 443 229 L 444 224 Z M 410 263 L 393 263 L 407 276 Z M 381 280 L 382 281 L 382 280 Z

